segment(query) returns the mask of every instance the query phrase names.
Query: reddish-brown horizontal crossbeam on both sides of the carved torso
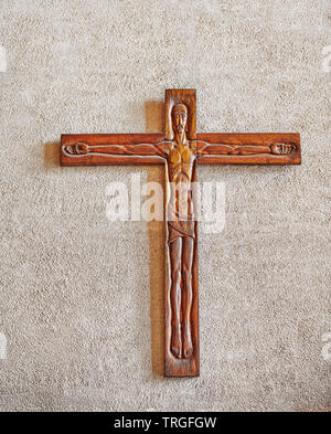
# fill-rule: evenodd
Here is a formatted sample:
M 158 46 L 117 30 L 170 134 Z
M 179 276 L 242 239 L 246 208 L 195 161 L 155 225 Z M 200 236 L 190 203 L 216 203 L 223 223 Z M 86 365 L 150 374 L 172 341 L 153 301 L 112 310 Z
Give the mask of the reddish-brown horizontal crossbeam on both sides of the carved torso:
M 116 165 L 162 165 L 161 158 L 148 155 L 148 150 L 136 150 L 138 145 L 157 145 L 166 140 L 162 134 L 97 134 L 97 135 L 62 135 L 62 166 L 116 166 Z M 217 147 L 228 146 L 228 154 L 205 154 L 196 161 L 199 165 L 300 165 L 301 149 L 300 135 L 290 133 L 212 133 L 197 134 L 197 144 L 214 145 Z M 85 144 L 86 152 L 77 150 L 74 146 Z M 292 150 L 286 155 L 261 154 L 261 147 L 270 147 L 274 144 L 292 146 Z M 132 146 L 131 155 L 106 154 L 110 145 Z M 236 152 L 241 147 L 249 147 L 249 152 Z M 224 150 L 226 152 L 226 149 Z

